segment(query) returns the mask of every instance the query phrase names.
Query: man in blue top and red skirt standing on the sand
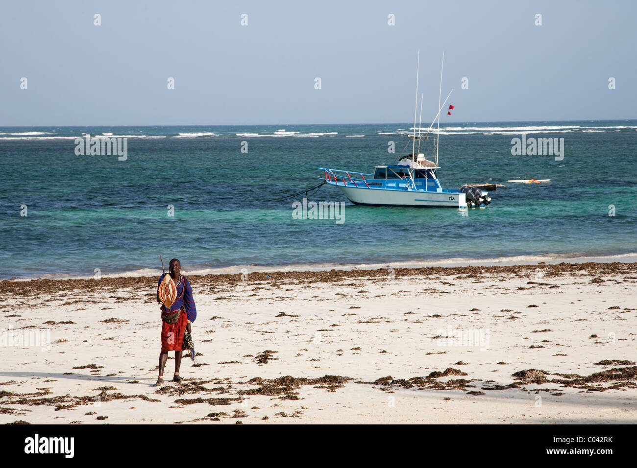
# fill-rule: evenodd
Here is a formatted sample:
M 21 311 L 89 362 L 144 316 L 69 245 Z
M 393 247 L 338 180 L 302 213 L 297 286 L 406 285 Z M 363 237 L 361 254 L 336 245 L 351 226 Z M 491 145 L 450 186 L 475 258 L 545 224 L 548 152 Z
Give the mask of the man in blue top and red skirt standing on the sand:
M 169 265 L 170 277 L 175 281 L 177 288 L 177 299 L 171 306 L 170 310 L 166 310 L 166 306 L 161 306 L 162 327 L 161 327 L 161 353 L 159 354 L 159 378 L 157 385 L 164 383 L 164 367 L 168 359 L 168 351 L 175 351 L 175 376 L 173 382 L 179 382 L 182 378 L 179 376 L 179 366 L 182 364 L 182 344 L 183 333 L 188 330 L 191 333 L 190 323 L 197 318 L 197 309 L 195 301 L 192 299 L 192 288 L 190 282 L 181 274 L 182 264 L 177 259 L 170 260 Z M 166 273 L 159 278 L 157 285 L 157 302 L 159 300 L 159 285 L 161 285 Z M 179 318 L 175 323 L 166 322 L 166 318 L 180 311 Z M 173 320 L 170 320 L 173 321 Z

